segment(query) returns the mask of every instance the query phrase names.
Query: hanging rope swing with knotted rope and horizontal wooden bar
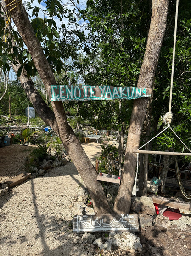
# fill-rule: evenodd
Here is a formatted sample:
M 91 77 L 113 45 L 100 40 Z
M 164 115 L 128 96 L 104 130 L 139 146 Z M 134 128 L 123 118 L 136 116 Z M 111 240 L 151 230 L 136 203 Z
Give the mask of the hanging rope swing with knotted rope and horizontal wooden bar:
M 173 120 L 173 113 L 171 112 L 171 106 L 172 106 L 172 94 L 173 94 L 173 79 L 174 79 L 174 59 L 175 59 L 175 48 L 176 48 L 176 32 L 177 32 L 177 20 L 178 20 L 178 4 L 179 0 L 176 1 L 176 15 L 175 15 L 175 26 L 174 26 L 174 45 L 173 45 L 173 59 L 172 59 L 172 73 L 171 73 L 171 84 L 170 84 L 170 97 L 169 97 L 169 112 L 167 112 L 164 117 L 163 117 L 163 123 L 167 124 L 167 127 L 163 129 L 160 133 L 158 133 L 155 137 L 153 137 L 150 141 L 145 143 L 143 146 L 141 146 L 139 149 L 134 150 L 133 152 L 137 154 L 137 170 L 136 170 L 136 176 L 135 176 L 135 184 L 133 187 L 132 195 L 136 195 L 136 180 L 137 180 L 137 173 L 138 173 L 138 165 L 139 165 L 139 153 L 142 154 L 158 154 L 158 155 L 182 155 L 182 156 L 191 156 L 191 150 L 185 145 L 185 143 L 180 139 L 180 137 L 173 131 L 173 129 L 170 127 L 170 124 Z M 185 146 L 186 149 L 190 153 L 183 153 L 183 152 L 163 152 L 163 151 L 151 151 L 151 150 L 140 150 L 142 149 L 146 144 L 150 143 L 153 139 L 158 137 L 161 133 L 163 133 L 165 130 L 170 129 L 173 131 L 173 133 L 178 137 L 180 142 Z M 185 192 L 185 189 L 182 185 L 181 177 L 180 177 L 180 172 L 179 172 L 179 167 L 178 167 L 178 162 L 177 159 L 175 159 L 175 169 L 176 169 L 176 175 L 178 179 L 178 183 L 180 186 L 180 190 L 183 194 L 183 196 L 191 200 L 191 195 L 187 195 Z

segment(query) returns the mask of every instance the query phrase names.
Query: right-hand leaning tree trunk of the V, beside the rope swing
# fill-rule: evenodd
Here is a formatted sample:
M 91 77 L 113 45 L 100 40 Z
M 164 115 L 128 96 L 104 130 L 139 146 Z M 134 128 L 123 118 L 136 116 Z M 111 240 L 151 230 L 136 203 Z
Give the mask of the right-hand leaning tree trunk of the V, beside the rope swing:
M 169 0 L 152 1 L 151 24 L 137 87 L 152 88 L 163 36 L 166 29 L 168 3 Z M 130 211 L 136 167 L 136 154 L 133 150 L 138 149 L 139 147 L 147 102 L 148 100 L 146 98 L 134 101 L 124 159 L 124 170 L 118 195 L 114 202 L 114 211 L 117 213 L 129 213 Z

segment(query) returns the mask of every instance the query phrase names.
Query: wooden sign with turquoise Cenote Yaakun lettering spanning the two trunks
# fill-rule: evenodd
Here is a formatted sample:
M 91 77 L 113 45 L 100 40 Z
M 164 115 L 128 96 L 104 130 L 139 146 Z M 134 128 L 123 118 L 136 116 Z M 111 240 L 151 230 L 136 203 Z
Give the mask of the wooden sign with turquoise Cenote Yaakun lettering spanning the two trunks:
M 113 86 L 51 85 L 51 101 L 89 101 L 150 97 L 150 88 Z

